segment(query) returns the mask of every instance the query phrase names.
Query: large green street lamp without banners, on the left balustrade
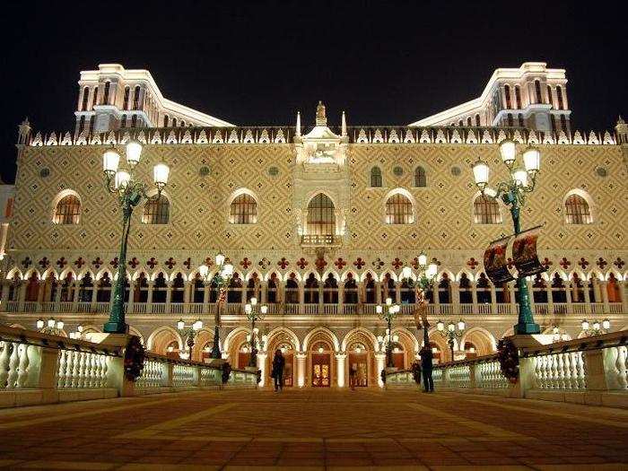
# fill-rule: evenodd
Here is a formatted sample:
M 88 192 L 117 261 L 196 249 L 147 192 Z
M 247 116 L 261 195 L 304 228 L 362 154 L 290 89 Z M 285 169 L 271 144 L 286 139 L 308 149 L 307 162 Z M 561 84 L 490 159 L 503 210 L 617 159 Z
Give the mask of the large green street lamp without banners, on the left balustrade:
M 118 170 L 120 154 L 112 147 L 102 156 L 102 167 L 109 193 L 118 195 L 118 204 L 122 208 L 122 240 L 118 257 L 118 279 L 113 292 L 113 302 L 109 311 L 109 322 L 104 331 L 109 334 L 126 334 L 128 326 L 125 320 L 125 282 L 126 282 L 126 245 L 131 227 L 131 214 L 142 198 L 149 201 L 159 200 L 161 191 L 168 183 L 170 167 L 165 163 L 157 163 L 153 167 L 153 183 L 157 193 L 148 196 L 148 185 L 135 179 L 135 166 L 142 156 L 142 144 L 137 141 L 126 143 L 126 163 L 128 170 Z

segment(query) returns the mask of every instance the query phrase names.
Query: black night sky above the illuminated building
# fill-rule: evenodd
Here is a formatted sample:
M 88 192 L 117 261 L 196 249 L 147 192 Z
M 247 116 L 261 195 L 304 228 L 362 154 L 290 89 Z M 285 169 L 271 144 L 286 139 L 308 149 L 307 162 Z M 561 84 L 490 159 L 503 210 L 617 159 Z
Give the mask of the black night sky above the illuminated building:
M 446 4 L 446 5 L 442 5 Z M 237 125 L 403 125 L 482 92 L 499 66 L 567 69 L 572 122 L 611 129 L 626 107 L 624 3 L 19 2 L 4 4 L 0 172 L 16 126 L 71 130 L 79 72 L 151 71 L 170 100 Z M 93 6 L 92 6 L 93 5 Z

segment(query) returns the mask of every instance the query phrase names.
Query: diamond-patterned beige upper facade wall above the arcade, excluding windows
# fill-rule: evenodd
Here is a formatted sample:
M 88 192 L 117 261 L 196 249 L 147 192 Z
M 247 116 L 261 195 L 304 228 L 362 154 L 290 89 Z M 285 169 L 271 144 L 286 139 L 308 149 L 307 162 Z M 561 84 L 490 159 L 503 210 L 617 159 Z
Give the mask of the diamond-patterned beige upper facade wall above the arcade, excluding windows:
M 92 257 L 102 257 L 107 266 L 117 256 L 121 215 L 116 198 L 103 185 L 101 155 L 105 148 L 23 148 L 8 245 L 15 265 L 29 257 L 31 266 L 40 269 L 39 259 L 47 257 L 48 266 L 60 271 L 62 266 L 55 266 L 58 257 L 66 257 L 69 264 L 74 257 L 83 257 L 88 266 Z M 618 256 L 625 259 L 628 172 L 622 147 L 544 144 L 540 148 L 541 173 L 536 192 L 528 196 L 522 225 L 545 224 L 541 256 L 554 259 L 554 266 L 561 257 L 576 257 L 571 268 L 581 256 L 591 257 L 591 262 L 597 257 L 610 258 L 609 262 Z M 394 257 L 408 261 L 420 249 L 429 249 L 444 266 L 466 267 L 469 257 L 481 259 L 488 241 L 510 233 L 511 225 L 504 206 L 502 224 L 473 223 L 476 190 L 470 165 L 478 157 L 492 162 L 493 182 L 506 177 L 497 144 L 349 144 L 351 207 L 342 208 L 347 211 L 347 234 L 344 246 L 327 256 L 327 268 L 333 268 L 333 259 L 338 257 L 349 262 L 346 268 L 354 268 L 353 260 L 362 257 L 364 268 L 388 269 Z M 234 261 L 249 257 L 262 269 L 276 269 L 283 257 L 290 262 L 283 265 L 285 270 L 296 270 L 301 257 L 310 259 L 308 268 L 313 266 L 313 251 L 300 247 L 292 208 L 292 144 L 149 144 L 138 166 L 140 178 L 150 182 L 157 161 L 166 161 L 171 167 L 166 189 L 170 223 L 144 225 L 142 209 L 135 210 L 129 258 L 137 257 L 144 266 L 146 260 L 156 257 L 163 266 L 173 257 L 182 268 L 183 261 L 191 257 L 189 269 L 222 249 Z M 384 188 L 369 188 L 369 171 L 375 164 L 383 171 Z M 416 165 L 427 170 L 427 188 L 413 188 Z M 209 173 L 203 176 L 205 168 Z M 604 173 L 605 177 L 600 176 Z M 67 188 L 76 191 L 83 204 L 81 222 L 75 226 L 51 222 L 55 198 Z M 230 198 L 239 188 L 248 188 L 257 196 L 257 224 L 228 222 Z M 384 199 L 394 188 L 405 188 L 414 196 L 414 224 L 384 224 Z M 589 194 L 594 223 L 564 223 L 563 199 L 572 188 Z M 270 263 L 258 263 L 263 257 Z M 379 266 L 378 258 L 386 266 Z M 25 271 L 27 266 L 20 268 Z

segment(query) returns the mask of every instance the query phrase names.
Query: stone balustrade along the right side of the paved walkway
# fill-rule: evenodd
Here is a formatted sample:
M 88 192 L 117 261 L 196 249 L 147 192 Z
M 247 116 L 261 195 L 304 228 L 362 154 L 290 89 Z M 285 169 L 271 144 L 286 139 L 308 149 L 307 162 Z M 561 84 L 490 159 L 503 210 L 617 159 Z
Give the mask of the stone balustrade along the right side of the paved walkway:
M 494 354 L 434 365 L 435 388 L 628 407 L 628 331 L 549 345 L 533 336 L 511 338 L 519 345 L 516 382 L 502 375 Z M 388 372 L 386 385 L 417 386 L 410 371 Z

